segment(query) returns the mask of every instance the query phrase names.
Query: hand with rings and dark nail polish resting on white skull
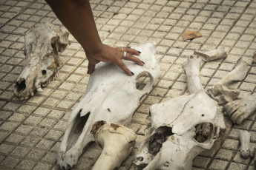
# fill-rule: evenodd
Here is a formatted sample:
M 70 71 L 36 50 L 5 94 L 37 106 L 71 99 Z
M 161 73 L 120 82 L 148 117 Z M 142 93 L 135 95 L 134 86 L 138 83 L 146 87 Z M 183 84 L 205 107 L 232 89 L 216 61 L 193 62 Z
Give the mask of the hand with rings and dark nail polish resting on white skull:
M 126 54 L 125 54 L 126 52 Z M 143 61 L 140 61 L 139 58 L 135 57 L 134 55 L 140 55 L 140 52 L 129 47 L 123 48 L 113 48 L 109 47 L 108 45 L 102 44 L 102 48 L 99 52 L 90 53 L 85 50 L 86 57 L 88 58 L 88 73 L 91 74 L 94 69 L 95 65 L 98 64 L 100 61 L 107 62 L 107 63 L 114 63 L 120 69 L 122 69 L 127 75 L 134 75 L 130 69 L 128 69 L 125 64 L 122 62 L 125 54 L 125 60 L 134 61 L 134 63 L 139 64 L 140 66 L 144 65 Z

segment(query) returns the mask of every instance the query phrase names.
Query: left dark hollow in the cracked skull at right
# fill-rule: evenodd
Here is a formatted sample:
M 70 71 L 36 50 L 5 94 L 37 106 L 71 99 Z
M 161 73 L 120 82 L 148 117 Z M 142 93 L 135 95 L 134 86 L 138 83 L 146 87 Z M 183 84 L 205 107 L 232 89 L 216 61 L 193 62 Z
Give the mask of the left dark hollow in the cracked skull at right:
M 167 138 L 174 133 L 171 132 L 171 127 L 168 126 L 160 126 L 154 135 L 152 135 L 148 142 L 148 152 L 153 154 L 154 156 L 160 152 L 160 149 L 163 146 L 163 143 L 167 140 Z

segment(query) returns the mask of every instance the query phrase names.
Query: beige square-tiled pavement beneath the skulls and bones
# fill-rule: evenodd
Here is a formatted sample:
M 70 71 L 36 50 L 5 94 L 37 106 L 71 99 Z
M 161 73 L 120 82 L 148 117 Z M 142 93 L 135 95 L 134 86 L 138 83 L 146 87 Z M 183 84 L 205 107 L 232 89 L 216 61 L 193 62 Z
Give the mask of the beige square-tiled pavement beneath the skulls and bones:
M 181 64 L 194 50 L 225 47 L 228 57 L 203 64 L 200 78 L 211 86 L 230 72 L 239 58 L 249 64 L 246 79 L 232 84 L 241 90 L 239 98 L 255 92 L 256 1 L 185 0 L 185 1 L 91 1 L 99 35 L 113 47 L 136 45 L 140 41 L 157 44 L 157 59 L 162 76 L 151 93 L 142 98 L 129 127 L 144 135 L 148 107 L 169 97 L 183 95 L 186 75 Z M 45 1 L 0 0 L 0 169 L 52 169 L 56 151 L 67 126 L 70 110 L 85 92 L 89 75 L 88 60 L 82 47 L 70 35 L 71 44 L 62 52 L 64 66 L 56 81 L 43 92 L 19 101 L 13 95 L 16 78 L 24 64 L 24 33 L 35 24 L 49 21 L 62 25 Z M 183 41 L 185 30 L 197 30 L 202 37 Z M 251 133 L 256 146 L 256 114 L 231 129 L 220 148 L 198 155 L 193 169 L 249 169 L 253 161 L 240 157 L 238 129 Z M 227 119 L 229 120 L 229 119 Z M 101 149 L 95 143 L 82 154 L 73 169 L 90 169 Z M 136 149 L 132 152 L 136 152 Z M 132 156 L 120 169 L 131 166 Z

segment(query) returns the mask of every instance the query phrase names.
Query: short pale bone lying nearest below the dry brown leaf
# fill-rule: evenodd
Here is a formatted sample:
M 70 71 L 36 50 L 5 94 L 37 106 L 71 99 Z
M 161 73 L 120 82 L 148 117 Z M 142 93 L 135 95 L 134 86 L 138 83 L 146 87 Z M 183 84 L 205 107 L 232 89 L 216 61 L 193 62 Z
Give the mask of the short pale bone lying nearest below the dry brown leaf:
M 197 50 L 194 52 L 194 55 L 198 55 L 200 58 L 202 58 L 203 61 L 213 61 L 219 58 L 226 58 L 227 53 L 223 47 L 220 47 L 215 50 L 206 51 L 206 52 Z

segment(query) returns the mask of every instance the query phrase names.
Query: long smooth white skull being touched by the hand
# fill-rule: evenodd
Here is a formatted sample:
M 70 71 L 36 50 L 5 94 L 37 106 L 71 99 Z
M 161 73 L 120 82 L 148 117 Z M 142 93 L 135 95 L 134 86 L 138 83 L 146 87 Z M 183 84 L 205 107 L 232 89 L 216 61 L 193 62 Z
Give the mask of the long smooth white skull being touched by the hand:
M 139 58 L 145 61 L 145 65 L 141 67 L 134 62 L 124 61 L 134 72 L 133 76 L 125 75 L 115 64 L 97 64 L 84 97 L 70 114 L 68 128 L 57 153 L 56 164 L 60 167 L 67 169 L 77 163 L 82 150 L 93 141 L 93 123 L 105 120 L 107 123 L 128 124 L 142 95 L 149 92 L 154 81 L 160 77 L 154 43 L 140 44 L 134 48 L 141 51 Z M 144 77 L 149 77 L 149 81 L 144 88 L 137 89 L 138 79 Z

